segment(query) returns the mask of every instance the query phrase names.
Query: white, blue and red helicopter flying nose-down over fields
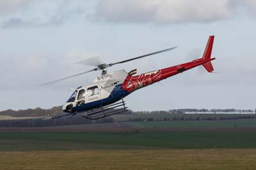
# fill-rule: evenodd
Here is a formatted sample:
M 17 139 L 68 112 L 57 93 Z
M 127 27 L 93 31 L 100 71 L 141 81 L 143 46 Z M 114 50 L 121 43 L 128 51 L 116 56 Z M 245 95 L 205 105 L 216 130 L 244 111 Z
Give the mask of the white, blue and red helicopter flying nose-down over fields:
M 92 84 L 87 84 L 86 86 L 80 86 L 79 88 L 74 89 L 74 92 L 72 93 L 70 98 L 68 98 L 67 102 L 63 104 L 62 107 L 62 111 L 67 112 L 66 114 L 60 116 L 51 116 L 47 119 L 54 120 L 57 118 L 62 118 L 64 116 L 74 116 L 78 113 L 81 113 L 83 118 L 89 120 L 106 118 L 107 116 L 112 116 L 114 114 L 119 114 L 127 111 L 128 108 L 125 106 L 124 98 L 138 89 L 145 88 L 150 84 L 162 81 L 164 79 L 167 79 L 168 77 L 172 77 L 173 75 L 185 72 L 187 70 L 190 70 L 191 68 L 195 68 L 196 66 L 200 65 L 204 66 L 205 70 L 211 73 L 214 71 L 211 61 L 215 59 L 211 58 L 213 43 L 214 36 L 209 36 L 209 40 L 205 47 L 202 58 L 195 59 L 188 63 L 155 70 L 152 72 L 141 73 L 140 75 L 136 75 L 137 69 L 131 70 L 131 72 L 125 72 L 125 70 L 118 70 L 108 73 L 107 68 L 114 65 L 133 61 L 135 59 L 159 54 L 161 52 L 167 52 L 177 47 L 159 50 L 157 52 L 152 52 L 150 54 L 126 59 L 124 61 L 119 61 L 116 63 L 100 63 L 96 65 L 95 68 L 93 68 L 92 70 L 57 79 L 56 81 L 40 84 L 40 86 L 52 84 L 54 82 L 63 81 L 65 79 L 70 79 L 72 77 L 77 77 L 79 75 L 94 72 L 97 70 L 100 70 L 101 72 L 99 77 L 96 77 Z M 84 60 L 83 62 L 86 63 L 87 61 L 88 60 Z

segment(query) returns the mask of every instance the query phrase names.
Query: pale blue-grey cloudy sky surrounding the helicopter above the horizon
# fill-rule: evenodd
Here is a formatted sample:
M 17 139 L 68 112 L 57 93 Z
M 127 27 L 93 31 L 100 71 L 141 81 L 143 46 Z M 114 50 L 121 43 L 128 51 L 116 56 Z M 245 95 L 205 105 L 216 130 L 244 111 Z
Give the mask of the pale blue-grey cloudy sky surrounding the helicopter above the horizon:
M 109 68 L 149 72 L 201 58 L 215 35 L 217 73 L 195 68 L 127 97 L 134 111 L 256 107 L 255 0 L 1 0 L 0 110 L 62 105 L 95 72 L 74 64 L 100 56 L 109 63 L 179 48 Z

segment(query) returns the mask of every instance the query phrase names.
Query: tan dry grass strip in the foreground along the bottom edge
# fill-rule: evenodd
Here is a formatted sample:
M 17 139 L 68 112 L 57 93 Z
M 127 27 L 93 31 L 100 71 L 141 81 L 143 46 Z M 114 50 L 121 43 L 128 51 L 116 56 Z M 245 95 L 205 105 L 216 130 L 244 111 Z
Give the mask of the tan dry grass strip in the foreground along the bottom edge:
M 256 149 L 0 152 L 0 167 L 18 169 L 256 169 Z

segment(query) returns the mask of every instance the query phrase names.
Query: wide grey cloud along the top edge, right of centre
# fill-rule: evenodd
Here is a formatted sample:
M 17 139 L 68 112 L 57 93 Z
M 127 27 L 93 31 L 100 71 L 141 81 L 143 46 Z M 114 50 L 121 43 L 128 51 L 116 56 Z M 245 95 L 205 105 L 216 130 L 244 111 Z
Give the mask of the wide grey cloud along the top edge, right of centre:
M 97 1 L 93 19 L 112 23 L 172 24 L 232 19 L 237 8 L 255 10 L 255 0 L 104 0 Z

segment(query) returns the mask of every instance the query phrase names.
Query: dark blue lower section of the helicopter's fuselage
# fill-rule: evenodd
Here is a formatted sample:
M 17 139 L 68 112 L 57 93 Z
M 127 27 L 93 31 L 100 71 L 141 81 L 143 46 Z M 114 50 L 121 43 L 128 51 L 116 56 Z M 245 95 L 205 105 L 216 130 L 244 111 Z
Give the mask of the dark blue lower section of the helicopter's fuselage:
M 122 98 L 126 97 L 127 95 L 129 95 L 129 92 L 125 91 L 125 89 L 122 88 L 122 84 L 118 84 L 115 86 L 115 88 L 110 93 L 108 98 L 104 98 L 102 100 L 97 100 L 95 102 L 90 102 L 88 104 L 72 107 L 72 112 L 87 111 L 93 108 L 113 104 L 118 100 L 121 100 Z

